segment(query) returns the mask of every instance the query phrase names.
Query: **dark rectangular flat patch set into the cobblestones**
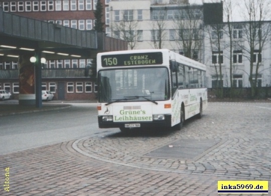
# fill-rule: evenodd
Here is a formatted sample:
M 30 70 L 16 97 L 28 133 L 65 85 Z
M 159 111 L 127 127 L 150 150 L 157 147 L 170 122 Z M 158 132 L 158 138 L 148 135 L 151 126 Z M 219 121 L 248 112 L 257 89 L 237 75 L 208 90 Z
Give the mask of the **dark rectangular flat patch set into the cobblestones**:
M 181 139 L 144 154 L 145 157 L 198 160 L 225 141 Z

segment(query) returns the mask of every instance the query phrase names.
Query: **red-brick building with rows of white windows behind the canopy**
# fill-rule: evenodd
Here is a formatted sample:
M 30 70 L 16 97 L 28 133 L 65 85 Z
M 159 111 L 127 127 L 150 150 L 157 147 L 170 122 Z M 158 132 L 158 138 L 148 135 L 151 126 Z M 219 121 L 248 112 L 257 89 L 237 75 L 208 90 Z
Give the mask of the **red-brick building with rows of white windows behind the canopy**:
M 103 19 L 108 26 L 108 2 L 103 5 Z M 60 1 L 3 1 L 4 12 L 63 25 L 82 31 L 92 31 L 97 0 Z M 99 43 L 98 43 L 99 44 Z M 95 100 L 97 85 L 95 75 L 89 74 L 86 65 L 92 59 L 48 60 L 43 65 L 42 89 L 50 90 L 57 100 Z M 18 61 L 0 62 L 0 89 L 9 90 L 14 99 L 19 97 Z M 88 72 L 86 74 L 86 71 Z

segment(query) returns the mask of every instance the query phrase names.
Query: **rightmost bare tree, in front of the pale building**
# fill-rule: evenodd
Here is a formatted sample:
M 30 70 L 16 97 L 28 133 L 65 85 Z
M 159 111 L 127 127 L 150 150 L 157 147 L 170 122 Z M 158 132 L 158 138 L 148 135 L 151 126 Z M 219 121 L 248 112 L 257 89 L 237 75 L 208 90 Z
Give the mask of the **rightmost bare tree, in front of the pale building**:
M 243 47 L 244 56 L 249 60 L 249 83 L 251 97 L 258 93 L 258 71 L 262 63 L 262 49 L 268 43 L 270 36 L 270 23 L 264 22 L 269 15 L 269 0 L 245 0 L 244 39 L 249 47 Z

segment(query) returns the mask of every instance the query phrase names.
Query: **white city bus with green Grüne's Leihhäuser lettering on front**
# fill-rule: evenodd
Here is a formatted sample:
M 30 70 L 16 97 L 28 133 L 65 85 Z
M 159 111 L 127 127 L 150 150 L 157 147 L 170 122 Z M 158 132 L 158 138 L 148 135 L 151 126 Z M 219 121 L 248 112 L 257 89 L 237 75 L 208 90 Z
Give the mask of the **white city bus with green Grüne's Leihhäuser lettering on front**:
M 175 127 L 207 107 L 206 66 L 167 49 L 97 54 L 99 128 Z

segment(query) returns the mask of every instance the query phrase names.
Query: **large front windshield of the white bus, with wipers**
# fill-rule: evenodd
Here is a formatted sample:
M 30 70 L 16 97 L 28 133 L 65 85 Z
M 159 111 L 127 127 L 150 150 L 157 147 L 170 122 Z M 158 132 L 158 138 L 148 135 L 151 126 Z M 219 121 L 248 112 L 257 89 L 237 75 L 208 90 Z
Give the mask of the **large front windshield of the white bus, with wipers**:
M 98 83 L 99 102 L 154 102 L 170 99 L 169 72 L 166 67 L 100 70 Z

